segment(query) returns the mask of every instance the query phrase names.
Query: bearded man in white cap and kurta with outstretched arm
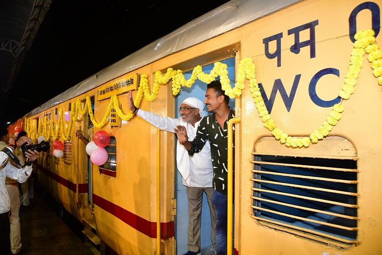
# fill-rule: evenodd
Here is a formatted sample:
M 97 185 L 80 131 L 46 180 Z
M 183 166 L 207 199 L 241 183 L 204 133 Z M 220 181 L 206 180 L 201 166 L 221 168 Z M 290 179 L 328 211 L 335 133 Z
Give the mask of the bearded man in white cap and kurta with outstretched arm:
M 192 141 L 196 136 L 199 123 L 204 117 L 204 104 L 195 97 L 186 98 L 179 108 L 181 118 L 173 119 L 170 117 L 161 117 L 154 113 L 146 112 L 134 106 L 131 91 L 128 95 L 130 110 L 138 117 L 143 118 L 148 123 L 157 127 L 157 129 L 175 133 L 177 125 L 183 125 L 187 130 L 188 139 Z M 211 241 L 215 246 L 215 225 L 216 215 L 212 206 L 212 163 L 210 146 L 207 143 L 203 149 L 194 154 L 188 155 L 188 151 L 179 142 L 176 146 L 177 168 L 182 175 L 182 183 L 186 186 L 188 198 L 188 244 L 187 255 L 196 255 L 200 253 L 200 226 L 201 212 L 203 203 L 203 192 L 207 195 L 207 201 L 211 214 Z

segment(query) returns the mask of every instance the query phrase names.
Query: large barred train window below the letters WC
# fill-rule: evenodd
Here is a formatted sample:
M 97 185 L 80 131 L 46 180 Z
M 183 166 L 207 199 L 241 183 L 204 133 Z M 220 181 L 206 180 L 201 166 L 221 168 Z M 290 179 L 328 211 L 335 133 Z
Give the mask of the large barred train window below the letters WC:
M 358 243 L 359 170 L 348 140 L 326 137 L 292 149 L 263 137 L 252 155 L 252 218 L 340 247 Z

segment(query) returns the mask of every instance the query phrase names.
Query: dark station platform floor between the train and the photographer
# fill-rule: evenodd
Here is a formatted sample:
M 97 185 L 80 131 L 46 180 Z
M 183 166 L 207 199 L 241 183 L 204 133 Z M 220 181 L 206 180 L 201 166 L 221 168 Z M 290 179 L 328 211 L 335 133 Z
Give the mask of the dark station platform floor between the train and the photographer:
M 20 207 L 20 255 L 100 254 L 92 243 L 84 242 L 83 226 L 63 212 L 38 183 L 34 201 L 29 207 Z

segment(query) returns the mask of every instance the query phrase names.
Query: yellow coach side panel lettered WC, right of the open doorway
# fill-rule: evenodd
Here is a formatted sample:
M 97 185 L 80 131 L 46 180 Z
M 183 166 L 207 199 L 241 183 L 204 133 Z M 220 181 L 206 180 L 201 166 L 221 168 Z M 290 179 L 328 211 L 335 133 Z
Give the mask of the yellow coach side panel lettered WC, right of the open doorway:
M 289 136 L 309 137 L 322 126 L 333 105 L 340 102 L 338 94 L 344 84 L 353 49 L 349 30 L 379 30 L 380 7 L 380 2 L 377 1 L 302 1 L 243 27 L 242 58 L 251 57 L 256 64 L 256 79 L 276 127 Z M 375 18 L 376 15 L 379 15 L 378 18 Z M 382 43 L 381 39 L 380 33 L 376 34 L 376 42 Z M 240 161 L 238 158 L 236 161 L 240 162 L 236 164 L 236 169 L 241 171 L 240 175 L 236 175 L 240 176 L 236 184 L 240 184 L 237 187 L 240 189 L 238 193 L 241 195 L 241 210 L 235 221 L 240 229 L 240 253 L 249 254 L 252 250 L 256 254 L 377 254 L 382 250 L 378 241 L 381 229 L 376 224 L 382 220 L 379 213 L 381 205 L 376 202 L 381 195 L 378 184 L 381 181 L 379 173 L 382 158 L 379 150 L 382 140 L 378 130 L 382 126 L 382 119 L 375 114 L 376 109 L 382 107 L 382 93 L 377 79 L 373 76 L 367 54 L 362 60 L 363 67 L 354 87 L 355 91 L 348 100 L 342 101 L 341 105 L 345 110 L 341 119 L 333 127 L 328 138 L 319 140 L 317 144 L 310 144 L 308 148 L 286 147 L 272 137 L 258 117 L 252 93 L 249 89 L 242 91 L 240 140 L 236 140 L 240 141 L 237 146 L 241 148 L 240 156 L 236 155 L 236 158 L 241 157 Z M 266 161 L 267 156 L 263 156 L 264 154 L 279 155 L 272 159 L 273 162 L 279 163 L 286 158 L 285 155 L 292 157 L 292 164 L 301 164 L 304 158 L 295 158 L 301 155 L 311 158 L 310 164 L 314 162 L 314 158 L 322 157 L 321 161 L 325 161 L 328 167 L 337 167 L 336 157 L 343 159 L 340 167 L 344 167 L 344 162 L 350 162 L 352 167 L 347 167 L 359 171 L 352 174 L 356 176 L 356 184 L 346 185 L 347 192 L 355 192 L 352 197 L 356 209 L 351 209 L 351 217 L 354 217 L 354 220 L 351 220 L 352 224 L 343 228 L 353 228 L 355 224 L 358 231 L 354 231 L 353 228 L 349 231 L 352 233 L 351 237 L 347 237 L 341 234 L 341 231 L 322 231 L 323 225 L 308 227 L 302 224 L 303 226 L 299 225 L 302 228 L 297 228 L 296 222 L 299 220 L 290 218 L 294 217 L 291 208 L 280 211 L 280 215 L 292 214 L 286 218 L 265 211 L 269 209 L 265 206 L 267 203 L 258 199 L 275 199 L 277 203 L 293 203 L 293 199 L 288 196 L 276 198 L 276 195 L 269 195 L 265 187 L 269 186 L 272 192 L 286 192 L 286 189 L 280 188 L 284 187 L 280 183 L 276 186 L 268 184 L 269 181 L 277 182 L 276 177 L 268 179 L 269 175 L 264 172 L 257 173 L 271 171 L 271 167 L 265 163 L 253 163 Z M 286 164 L 285 162 L 281 164 Z M 257 172 L 254 173 L 251 169 Z M 296 169 L 293 174 L 297 174 Z M 329 170 L 312 169 L 312 174 L 322 177 L 324 171 Z M 334 176 L 338 176 L 338 172 Z M 287 183 L 283 177 L 281 180 Z M 300 180 L 300 177 L 294 176 L 293 180 Z M 305 186 L 319 186 L 314 181 L 308 183 Z M 301 182 L 297 184 L 303 185 Z M 326 189 L 341 189 L 340 184 L 327 184 Z M 290 195 L 292 192 L 287 193 Z M 319 192 L 310 191 L 311 196 L 314 196 L 314 193 Z M 329 194 L 329 200 L 340 197 L 336 193 Z M 322 197 L 323 195 L 320 195 L 321 199 Z M 279 206 L 275 201 L 271 203 L 272 212 L 278 211 Z M 260 209 L 254 209 L 253 206 Z M 330 210 L 332 209 L 328 209 Z M 343 214 L 346 214 L 346 210 Z M 301 213 L 306 210 L 297 211 Z M 336 217 L 329 217 L 328 223 L 333 223 Z M 304 216 L 303 221 L 309 218 L 313 219 L 313 214 L 312 217 Z M 290 224 L 293 227 L 290 227 Z M 338 222 L 333 224 L 341 225 Z M 326 228 L 328 227 L 331 226 Z M 338 241 L 337 238 L 342 241 Z

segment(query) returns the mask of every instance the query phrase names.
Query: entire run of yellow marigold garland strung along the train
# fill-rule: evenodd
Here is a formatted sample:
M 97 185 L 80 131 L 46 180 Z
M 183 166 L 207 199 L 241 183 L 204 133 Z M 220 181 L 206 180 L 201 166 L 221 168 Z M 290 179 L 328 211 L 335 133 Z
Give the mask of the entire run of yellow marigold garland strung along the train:
M 373 69 L 373 75 L 377 78 L 378 85 L 382 86 L 382 52 L 380 51 L 378 45 L 375 43 L 374 31 L 365 30 L 358 32 L 354 39 L 356 41 L 353 44 L 353 50 L 350 53 L 350 64 L 345 75 L 344 84 L 339 92 L 339 96 L 342 100 L 347 100 L 350 98 L 350 95 L 354 93 L 354 86 L 357 84 L 359 73 L 363 67 L 364 55 L 368 54 L 368 61 L 371 63 L 371 68 Z M 162 74 L 160 71 L 156 71 L 154 74 L 154 84 L 152 92 L 150 93 L 149 84 L 147 80 L 147 75 L 141 75 L 140 85 L 137 91 L 137 95 L 134 98 L 134 105 L 139 107 L 143 96 L 147 101 L 154 101 L 158 95 L 160 85 L 168 84 L 172 80 L 172 92 L 173 95 L 177 95 L 180 91 L 180 88 L 191 87 L 196 79 L 204 83 L 211 83 L 220 76 L 220 81 L 222 83 L 222 89 L 225 91 L 225 94 L 230 98 L 235 98 L 236 96 L 241 95 L 241 90 L 244 89 L 245 80 L 249 80 L 250 91 L 254 102 L 256 104 L 256 109 L 258 111 L 259 117 L 264 123 L 264 127 L 268 129 L 272 136 L 276 140 L 279 140 L 280 143 L 285 144 L 288 147 L 309 147 L 310 143 L 317 143 L 319 140 L 322 140 L 325 136 L 329 135 L 329 132 L 332 131 L 333 127 L 341 119 L 341 113 L 344 111 L 344 107 L 341 106 L 341 103 L 336 104 L 332 111 L 330 112 L 328 118 L 323 122 L 323 124 L 318 127 L 309 137 L 296 138 L 290 137 L 288 134 L 284 133 L 279 129 L 275 121 L 270 117 L 268 110 L 266 109 L 264 100 L 260 93 L 260 88 L 257 84 L 255 77 L 255 64 L 252 61 L 252 58 L 244 58 L 239 63 L 239 68 L 236 74 L 236 83 L 232 88 L 230 85 L 230 80 L 228 78 L 227 65 L 221 62 L 214 63 L 214 67 L 209 74 L 204 73 L 200 65 L 196 66 L 192 72 L 191 77 L 186 80 L 184 78 L 183 72 L 181 70 L 173 70 L 168 68 L 165 74 Z M 341 101 L 342 101 L 341 100 Z M 60 130 L 62 138 L 67 141 L 70 138 L 72 122 L 81 120 L 78 119 L 78 114 L 85 115 L 87 112 L 90 115 L 90 119 L 93 124 L 101 129 L 110 116 L 111 106 L 114 106 L 118 116 L 122 120 L 129 120 L 133 117 L 132 111 L 129 111 L 128 114 L 124 114 L 120 109 L 120 104 L 118 101 L 118 96 L 114 95 L 110 98 L 110 104 L 106 109 L 106 113 L 102 118 L 102 121 L 98 123 L 93 115 L 92 105 L 90 97 L 86 97 L 86 103 L 84 109 L 82 108 L 80 99 L 77 99 L 75 104 L 72 104 L 68 132 L 65 134 L 64 123 L 63 123 L 63 108 L 60 109 L 60 116 L 58 123 L 54 123 L 53 115 L 50 116 L 50 123 L 48 123 L 47 115 L 44 116 L 42 123 L 41 118 L 39 118 L 39 123 L 37 120 L 26 120 L 26 131 L 31 134 L 31 138 L 37 138 L 40 135 L 44 135 L 47 140 L 49 140 L 50 135 L 52 139 L 56 140 L 59 136 Z

